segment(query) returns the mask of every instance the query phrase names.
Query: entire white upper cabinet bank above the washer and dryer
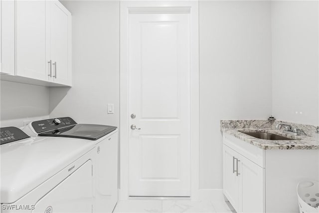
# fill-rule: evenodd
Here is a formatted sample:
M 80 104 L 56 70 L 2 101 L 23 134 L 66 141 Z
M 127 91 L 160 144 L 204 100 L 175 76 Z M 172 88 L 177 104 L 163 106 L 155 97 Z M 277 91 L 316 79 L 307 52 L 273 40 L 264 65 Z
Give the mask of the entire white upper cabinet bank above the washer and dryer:
M 58 0 L 1 5 L 1 79 L 71 86 L 71 13 Z

